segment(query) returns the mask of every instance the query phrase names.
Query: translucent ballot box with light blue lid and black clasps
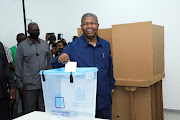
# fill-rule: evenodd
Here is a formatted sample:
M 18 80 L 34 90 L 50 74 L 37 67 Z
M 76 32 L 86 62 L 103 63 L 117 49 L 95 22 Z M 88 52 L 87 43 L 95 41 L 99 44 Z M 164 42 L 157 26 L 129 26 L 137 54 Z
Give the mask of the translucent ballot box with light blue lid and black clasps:
M 95 118 L 97 71 L 95 67 L 80 67 L 76 72 L 65 72 L 65 68 L 40 71 L 49 117 Z

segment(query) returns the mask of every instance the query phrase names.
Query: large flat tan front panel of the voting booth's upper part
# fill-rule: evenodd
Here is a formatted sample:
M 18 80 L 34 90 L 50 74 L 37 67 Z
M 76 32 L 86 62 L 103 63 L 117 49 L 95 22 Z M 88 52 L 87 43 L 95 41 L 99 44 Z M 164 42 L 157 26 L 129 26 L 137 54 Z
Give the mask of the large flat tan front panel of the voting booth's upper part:
M 113 25 L 115 79 L 152 80 L 152 22 Z

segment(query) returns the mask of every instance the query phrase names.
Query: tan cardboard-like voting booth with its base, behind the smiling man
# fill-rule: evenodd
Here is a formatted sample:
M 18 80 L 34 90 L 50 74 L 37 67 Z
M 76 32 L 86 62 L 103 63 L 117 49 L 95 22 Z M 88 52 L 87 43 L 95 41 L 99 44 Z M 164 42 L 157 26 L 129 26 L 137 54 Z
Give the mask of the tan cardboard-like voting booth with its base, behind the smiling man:
M 164 120 L 164 27 L 152 22 L 120 24 L 99 29 L 98 35 L 111 43 L 116 79 L 112 119 Z

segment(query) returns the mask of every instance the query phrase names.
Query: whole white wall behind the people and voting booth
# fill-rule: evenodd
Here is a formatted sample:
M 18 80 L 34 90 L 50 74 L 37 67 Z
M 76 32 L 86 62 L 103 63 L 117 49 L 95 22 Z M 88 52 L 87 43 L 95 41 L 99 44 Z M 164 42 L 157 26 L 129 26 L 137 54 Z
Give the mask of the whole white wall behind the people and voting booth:
M 5 15 L 0 22 L 0 40 L 10 47 L 16 43 L 14 36 L 23 32 L 21 0 L 0 1 L 4 4 L 0 4 L 0 13 Z M 143 21 L 165 26 L 164 107 L 180 110 L 179 6 L 179 0 L 25 0 L 26 18 L 39 24 L 43 39 L 45 33 L 55 32 L 63 33 L 64 38 L 71 41 L 86 12 L 98 16 L 100 28 Z

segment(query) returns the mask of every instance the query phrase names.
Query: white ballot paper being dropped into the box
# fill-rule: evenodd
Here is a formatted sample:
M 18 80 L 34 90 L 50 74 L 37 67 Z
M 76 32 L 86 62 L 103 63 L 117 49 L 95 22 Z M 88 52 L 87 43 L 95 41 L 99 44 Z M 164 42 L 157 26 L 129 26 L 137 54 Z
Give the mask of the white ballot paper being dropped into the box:
M 65 64 L 65 72 L 76 72 L 77 62 L 67 62 Z

